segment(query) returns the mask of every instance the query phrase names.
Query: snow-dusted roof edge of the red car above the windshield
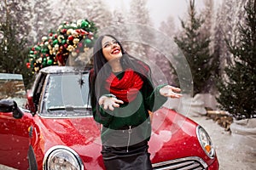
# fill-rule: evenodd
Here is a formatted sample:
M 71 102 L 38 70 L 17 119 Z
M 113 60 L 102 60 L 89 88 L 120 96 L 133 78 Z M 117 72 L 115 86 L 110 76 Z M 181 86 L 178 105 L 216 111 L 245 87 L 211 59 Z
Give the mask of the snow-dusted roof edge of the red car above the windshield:
M 40 72 L 46 73 L 46 74 L 59 74 L 59 73 L 73 73 L 73 72 L 89 72 L 92 66 L 59 66 L 59 65 L 50 65 L 47 67 L 44 67 L 40 70 Z

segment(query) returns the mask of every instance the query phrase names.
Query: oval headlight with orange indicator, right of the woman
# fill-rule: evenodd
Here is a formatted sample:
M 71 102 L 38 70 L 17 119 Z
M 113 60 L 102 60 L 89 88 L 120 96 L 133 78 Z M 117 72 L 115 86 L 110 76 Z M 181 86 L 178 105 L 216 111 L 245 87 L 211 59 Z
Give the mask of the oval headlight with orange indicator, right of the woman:
M 207 131 L 203 127 L 197 126 L 196 135 L 201 144 L 202 149 L 205 151 L 207 156 L 213 158 L 215 156 L 215 150 L 212 146 L 212 140 Z

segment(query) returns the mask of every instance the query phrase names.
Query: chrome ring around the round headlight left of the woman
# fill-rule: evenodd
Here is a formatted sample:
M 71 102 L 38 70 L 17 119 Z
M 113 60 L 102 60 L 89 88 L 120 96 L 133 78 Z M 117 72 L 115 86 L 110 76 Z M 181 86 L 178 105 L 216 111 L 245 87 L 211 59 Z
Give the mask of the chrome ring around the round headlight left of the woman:
M 47 170 L 47 169 L 45 169 L 46 168 L 45 163 L 46 163 L 47 159 L 49 158 L 49 154 L 51 154 L 54 150 L 67 150 L 67 151 L 71 152 L 73 154 L 73 156 L 75 156 L 77 158 L 77 160 L 79 161 L 80 170 L 84 170 L 84 163 L 81 160 L 79 154 L 75 150 L 73 150 L 67 146 L 64 146 L 64 145 L 55 145 L 46 151 L 46 153 L 44 155 L 44 161 L 43 161 L 43 169 L 44 170 Z

